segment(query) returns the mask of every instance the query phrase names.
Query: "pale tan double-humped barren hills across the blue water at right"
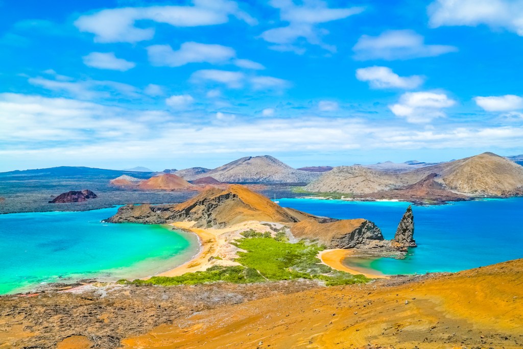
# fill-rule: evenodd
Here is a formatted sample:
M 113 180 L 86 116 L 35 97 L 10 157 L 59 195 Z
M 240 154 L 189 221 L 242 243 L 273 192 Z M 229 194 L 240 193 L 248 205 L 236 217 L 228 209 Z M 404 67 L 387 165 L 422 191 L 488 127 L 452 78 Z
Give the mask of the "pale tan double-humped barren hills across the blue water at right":
M 441 188 L 435 188 L 434 183 L 431 184 L 431 190 L 450 190 L 469 195 L 492 196 L 523 193 L 523 167 L 493 153 L 483 153 L 401 173 L 372 171 L 359 166 L 340 166 L 325 173 L 307 185 L 305 189 L 311 192 L 352 194 L 409 189 L 412 193 L 417 190 L 418 199 L 424 199 L 423 195 L 428 194 L 419 190 L 422 189 L 419 186 L 421 183 L 417 187 L 409 188 L 407 186 L 424 179 L 431 173 L 437 175 L 437 178 L 433 178 L 435 183 L 442 184 Z M 427 184 L 424 184 L 425 189 L 428 189 Z

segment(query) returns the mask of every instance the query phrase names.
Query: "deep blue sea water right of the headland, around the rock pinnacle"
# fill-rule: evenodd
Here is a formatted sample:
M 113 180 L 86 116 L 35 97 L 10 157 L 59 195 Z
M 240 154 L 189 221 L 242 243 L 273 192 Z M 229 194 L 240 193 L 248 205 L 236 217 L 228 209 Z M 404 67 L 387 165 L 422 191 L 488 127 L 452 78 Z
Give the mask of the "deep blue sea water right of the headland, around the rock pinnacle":
M 406 202 L 279 199 L 280 205 L 333 218 L 367 218 L 394 237 Z M 523 197 L 413 206 L 418 247 L 405 259 L 348 258 L 384 274 L 455 272 L 523 258 Z

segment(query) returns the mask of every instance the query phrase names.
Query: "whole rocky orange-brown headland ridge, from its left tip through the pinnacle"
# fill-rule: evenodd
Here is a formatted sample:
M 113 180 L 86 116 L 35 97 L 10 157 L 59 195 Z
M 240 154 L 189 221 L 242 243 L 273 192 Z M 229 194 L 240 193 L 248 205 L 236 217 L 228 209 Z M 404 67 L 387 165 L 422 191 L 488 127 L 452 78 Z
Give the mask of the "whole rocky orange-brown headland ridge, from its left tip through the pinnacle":
M 407 232 L 408 224 L 413 227 L 412 209 L 408 212 L 410 215 L 405 215 L 400 223 L 405 226 L 404 238 L 397 237 L 394 249 L 407 246 L 414 234 L 414 229 Z M 317 240 L 329 249 L 391 250 L 392 247 L 392 242 L 383 238 L 380 228 L 367 219 L 319 217 L 281 207 L 240 184 L 226 189 L 210 188 L 181 204 L 123 206 L 107 219 L 112 223 L 194 222 L 197 228 L 225 228 L 249 221 L 284 224 L 290 227 L 293 237 Z

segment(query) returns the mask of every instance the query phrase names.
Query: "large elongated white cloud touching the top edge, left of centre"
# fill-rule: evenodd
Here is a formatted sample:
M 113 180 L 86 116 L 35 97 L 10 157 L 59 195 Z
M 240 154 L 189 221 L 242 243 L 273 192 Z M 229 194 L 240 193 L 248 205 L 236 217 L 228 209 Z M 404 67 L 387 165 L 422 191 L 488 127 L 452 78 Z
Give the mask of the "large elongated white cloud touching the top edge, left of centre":
M 155 21 L 174 27 L 196 27 L 224 24 L 229 16 L 256 24 L 228 0 L 194 0 L 194 6 L 150 6 L 104 9 L 79 17 L 74 25 L 83 32 L 95 34 L 95 42 L 138 42 L 151 40 L 154 28 L 136 27 L 136 21 Z

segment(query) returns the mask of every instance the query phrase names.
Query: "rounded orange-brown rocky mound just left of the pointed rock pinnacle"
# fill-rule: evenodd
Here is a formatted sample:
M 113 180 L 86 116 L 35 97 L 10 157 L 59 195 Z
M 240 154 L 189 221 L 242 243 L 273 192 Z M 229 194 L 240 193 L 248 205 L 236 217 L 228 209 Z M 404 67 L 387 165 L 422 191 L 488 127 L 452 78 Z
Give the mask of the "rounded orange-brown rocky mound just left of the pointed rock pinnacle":
M 292 225 L 294 237 L 318 240 L 327 248 L 378 248 L 385 247 L 380 228 L 367 219 L 305 219 Z

